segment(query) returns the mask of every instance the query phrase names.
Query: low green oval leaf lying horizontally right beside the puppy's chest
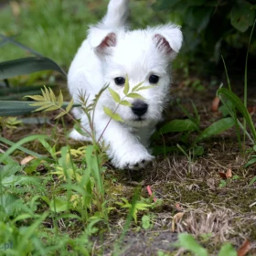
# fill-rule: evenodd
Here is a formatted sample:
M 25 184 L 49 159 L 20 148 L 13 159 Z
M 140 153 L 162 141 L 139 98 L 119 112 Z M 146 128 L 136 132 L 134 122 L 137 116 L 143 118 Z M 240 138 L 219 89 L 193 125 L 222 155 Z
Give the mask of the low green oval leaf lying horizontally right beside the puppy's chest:
M 160 133 L 181 133 L 181 132 L 190 132 L 197 131 L 197 124 L 192 122 L 189 119 L 185 120 L 173 120 L 169 123 L 166 123 L 161 129 Z

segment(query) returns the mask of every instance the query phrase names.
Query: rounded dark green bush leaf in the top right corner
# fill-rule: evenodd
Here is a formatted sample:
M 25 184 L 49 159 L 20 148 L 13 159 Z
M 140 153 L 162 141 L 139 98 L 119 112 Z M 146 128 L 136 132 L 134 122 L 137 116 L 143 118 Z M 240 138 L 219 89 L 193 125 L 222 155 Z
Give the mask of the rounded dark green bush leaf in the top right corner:
M 237 1 L 230 12 L 231 25 L 240 32 L 252 26 L 255 18 L 254 6 L 247 1 Z

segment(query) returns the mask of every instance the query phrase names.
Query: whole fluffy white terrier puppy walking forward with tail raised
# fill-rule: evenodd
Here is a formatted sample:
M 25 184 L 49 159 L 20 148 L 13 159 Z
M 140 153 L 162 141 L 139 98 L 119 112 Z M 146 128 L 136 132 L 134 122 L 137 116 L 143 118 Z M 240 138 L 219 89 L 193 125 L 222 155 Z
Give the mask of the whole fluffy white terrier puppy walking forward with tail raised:
M 182 45 L 180 27 L 167 24 L 130 31 L 126 27 L 129 0 L 111 0 L 106 16 L 96 26 L 91 26 L 73 59 L 68 75 L 68 85 L 75 102 L 80 92 L 92 101 L 106 84 L 124 97 L 123 86 L 129 78 L 130 89 L 143 82 L 150 89 L 139 91 L 142 99 L 126 98 L 131 106 L 119 105 L 106 90 L 101 94 L 94 112 L 96 138 L 109 144 L 107 155 L 112 165 L 121 169 L 141 169 L 154 159 L 150 154 L 149 138 L 155 125 L 162 120 L 168 104 L 171 85 L 171 61 Z M 103 107 L 118 113 L 123 122 L 112 120 Z M 86 114 L 76 110 L 81 125 L 90 130 Z M 108 125 L 107 125 L 108 124 Z M 106 128 L 107 125 L 107 128 Z M 106 129 L 105 129 L 106 128 Z M 89 141 L 73 130 L 75 140 Z

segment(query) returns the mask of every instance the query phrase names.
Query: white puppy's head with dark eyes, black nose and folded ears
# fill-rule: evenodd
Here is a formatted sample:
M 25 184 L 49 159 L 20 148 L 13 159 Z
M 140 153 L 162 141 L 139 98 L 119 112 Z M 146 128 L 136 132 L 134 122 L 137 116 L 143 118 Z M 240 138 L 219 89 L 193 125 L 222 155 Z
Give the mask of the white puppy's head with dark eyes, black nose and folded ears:
M 91 48 L 101 59 L 105 82 L 110 84 L 121 99 L 125 97 L 123 86 L 129 78 L 130 91 L 141 83 L 152 86 L 138 91 L 143 99 L 125 98 L 131 107 L 120 105 L 117 113 L 133 127 L 157 123 L 162 119 L 171 84 L 170 64 L 181 48 L 182 33 L 179 27 L 166 25 L 134 31 L 112 31 L 91 28 Z M 117 103 L 111 96 L 103 105 L 114 111 Z

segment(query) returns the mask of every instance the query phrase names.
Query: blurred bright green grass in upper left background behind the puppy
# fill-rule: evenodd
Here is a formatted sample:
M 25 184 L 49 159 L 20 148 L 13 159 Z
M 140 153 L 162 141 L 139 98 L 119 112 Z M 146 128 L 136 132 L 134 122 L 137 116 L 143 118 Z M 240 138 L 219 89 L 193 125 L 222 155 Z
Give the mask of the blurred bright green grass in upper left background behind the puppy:
M 17 4 L 17 16 L 11 5 L 6 5 L 0 9 L 0 33 L 68 67 L 86 37 L 88 25 L 99 20 L 106 5 L 107 1 L 103 5 L 100 1 L 22 1 Z M 27 55 L 10 44 L 5 44 L 0 52 L 0 61 Z

